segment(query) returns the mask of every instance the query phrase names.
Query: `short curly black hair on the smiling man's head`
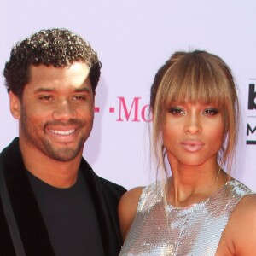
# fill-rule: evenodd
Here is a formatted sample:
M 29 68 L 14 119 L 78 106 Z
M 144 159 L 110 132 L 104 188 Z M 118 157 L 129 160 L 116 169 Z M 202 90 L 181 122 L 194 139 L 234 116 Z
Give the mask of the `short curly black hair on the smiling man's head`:
M 8 92 L 22 97 L 29 81 L 31 65 L 65 67 L 74 61 L 84 61 L 90 67 L 90 84 L 95 92 L 102 63 L 83 38 L 67 29 L 48 29 L 34 33 L 15 45 L 5 64 L 3 75 Z

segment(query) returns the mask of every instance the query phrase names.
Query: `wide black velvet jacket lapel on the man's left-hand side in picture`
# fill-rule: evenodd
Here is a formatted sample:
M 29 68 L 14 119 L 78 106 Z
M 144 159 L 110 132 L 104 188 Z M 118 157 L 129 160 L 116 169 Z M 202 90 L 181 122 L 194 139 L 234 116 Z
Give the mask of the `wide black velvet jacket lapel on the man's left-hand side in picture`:
M 55 255 L 16 138 L 3 154 L 3 173 L 26 255 Z

